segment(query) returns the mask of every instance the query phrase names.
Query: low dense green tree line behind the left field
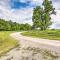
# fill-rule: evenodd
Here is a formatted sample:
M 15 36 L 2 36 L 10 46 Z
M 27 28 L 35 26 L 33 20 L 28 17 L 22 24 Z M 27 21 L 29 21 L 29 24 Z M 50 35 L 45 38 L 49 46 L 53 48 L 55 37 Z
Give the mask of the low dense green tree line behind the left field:
M 19 24 L 16 22 L 6 21 L 4 19 L 0 19 L 0 31 L 20 31 L 20 30 L 31 30 L 32 26 L 28 23 Z

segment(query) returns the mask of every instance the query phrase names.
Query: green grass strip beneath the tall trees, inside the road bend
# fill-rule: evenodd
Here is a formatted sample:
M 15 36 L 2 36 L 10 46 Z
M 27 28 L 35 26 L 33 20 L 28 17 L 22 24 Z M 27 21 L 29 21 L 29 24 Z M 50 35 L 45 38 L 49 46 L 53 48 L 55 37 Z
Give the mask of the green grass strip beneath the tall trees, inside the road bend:
M 38 37 L 50 40 L 60 40 L 60 30 L 45 30 L 45 31 L 27 31 L 22 33 L 24 36 Z

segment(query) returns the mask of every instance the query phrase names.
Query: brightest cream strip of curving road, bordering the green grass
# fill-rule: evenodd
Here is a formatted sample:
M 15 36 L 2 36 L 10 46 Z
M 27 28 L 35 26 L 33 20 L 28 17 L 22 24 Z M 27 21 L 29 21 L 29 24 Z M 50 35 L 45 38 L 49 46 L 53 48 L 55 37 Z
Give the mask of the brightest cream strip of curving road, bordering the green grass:
M 17 40 L 28 40 L 28 41 L 32 41 L 32 42 L 36 42 L 36 43 L 40 43 L 40 44 L 60 47 L 60 41 L 27 37 L 27 36 L 21 35 L 21 33 L 22 32 L 12 33 L 11 36 Z

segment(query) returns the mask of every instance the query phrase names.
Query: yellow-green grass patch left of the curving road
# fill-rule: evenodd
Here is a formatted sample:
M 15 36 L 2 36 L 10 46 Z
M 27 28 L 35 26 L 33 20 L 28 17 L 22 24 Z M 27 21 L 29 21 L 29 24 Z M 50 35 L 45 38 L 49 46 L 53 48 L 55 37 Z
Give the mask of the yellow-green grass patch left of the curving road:
M 9 36 L 11 33 L 8 31 L 0 32 L 0 56 L 18 46 L 18 41 Z

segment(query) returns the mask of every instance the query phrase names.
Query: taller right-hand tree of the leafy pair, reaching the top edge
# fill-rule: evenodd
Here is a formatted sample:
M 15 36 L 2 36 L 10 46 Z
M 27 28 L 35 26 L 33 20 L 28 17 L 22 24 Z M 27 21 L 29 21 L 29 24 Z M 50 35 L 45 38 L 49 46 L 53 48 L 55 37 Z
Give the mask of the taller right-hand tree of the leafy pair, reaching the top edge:
M 52 1 L 50 0 L 44 0 L 42 5 L 44 6 L 44 14 L 43 14 L 44 28 L 43 30 L 46 30 L 52 24 L 50 15 L 55 14 L 55 11 L 54 11 L 55 8 L 53 8 Z

